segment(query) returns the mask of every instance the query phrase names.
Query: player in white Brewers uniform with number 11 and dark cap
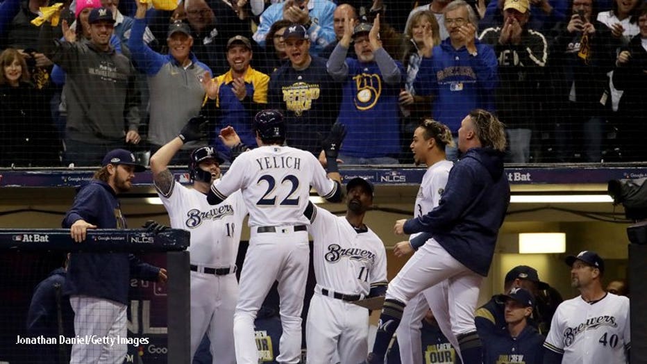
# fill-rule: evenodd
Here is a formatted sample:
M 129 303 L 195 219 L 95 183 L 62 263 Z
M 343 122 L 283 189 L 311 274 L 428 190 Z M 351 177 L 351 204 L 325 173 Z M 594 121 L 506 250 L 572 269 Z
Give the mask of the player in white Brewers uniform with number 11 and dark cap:
M 304 212 L 314 238 L 317 279 L 305 324 L 309 364 L 362 361 L 369 351 L 369 311 L 350 301 L 383 296 L 387 289 L 384 243 L 364 224 L 373 204 L 373 185 L 355 177 L 346 192 L 346 216 L 337 217 L 312 202 Z

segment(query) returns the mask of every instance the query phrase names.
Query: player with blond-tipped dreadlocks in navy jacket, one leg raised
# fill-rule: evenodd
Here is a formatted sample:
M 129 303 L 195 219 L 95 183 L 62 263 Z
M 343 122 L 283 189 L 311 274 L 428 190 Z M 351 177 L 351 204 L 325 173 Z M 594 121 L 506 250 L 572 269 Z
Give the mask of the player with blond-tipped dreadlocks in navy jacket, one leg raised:
M 435 299 L 446 302 L 447 311 L 434 313 L 449 318 L 462 362 L 482 361 L 474 310 L 510 202 L 510 185 L 503 171 L 503 124 L 485 110 L 472 110 L 461 122 L 458 148 L 463 157 L 449 172 L 438 206 L 412 220 L 398 220 L 394 226 L 398 235 L 424 231 L 427 234 L 415 239 L 422 237 L 426 242 L 389 283 L 367 363 L 384 360 L 407 302 L 444 281 L 444 297 Z

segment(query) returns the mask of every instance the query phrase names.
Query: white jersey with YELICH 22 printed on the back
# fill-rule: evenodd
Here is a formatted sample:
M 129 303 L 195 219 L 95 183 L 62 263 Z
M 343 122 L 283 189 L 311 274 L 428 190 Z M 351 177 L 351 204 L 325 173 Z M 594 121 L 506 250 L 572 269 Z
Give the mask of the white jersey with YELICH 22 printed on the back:
M 249 226 L 307 224 L 303 210 L 310 185 L 324 198 L 335 195 L 337 184 L 326 176 L 319 160 L 307 151 L 266 145 L 234 160 L 211 190 L 224 199 L 241 190 L 249 210 Z

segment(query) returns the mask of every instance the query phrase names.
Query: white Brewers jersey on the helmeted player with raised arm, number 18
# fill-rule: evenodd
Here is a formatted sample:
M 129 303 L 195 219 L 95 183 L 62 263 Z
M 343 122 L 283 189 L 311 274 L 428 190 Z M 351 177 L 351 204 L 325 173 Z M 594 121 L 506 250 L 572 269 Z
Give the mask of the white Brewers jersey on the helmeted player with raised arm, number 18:
M 168 195 L 158 190 L 169 213 L 171 227 L 191 233 L 188 251 L 191 263 L 208 267 L 231 267 L 236 263 L 240 232 L 247 208 L 240 192 L 216 206 L 202 192 L 174 182 Z

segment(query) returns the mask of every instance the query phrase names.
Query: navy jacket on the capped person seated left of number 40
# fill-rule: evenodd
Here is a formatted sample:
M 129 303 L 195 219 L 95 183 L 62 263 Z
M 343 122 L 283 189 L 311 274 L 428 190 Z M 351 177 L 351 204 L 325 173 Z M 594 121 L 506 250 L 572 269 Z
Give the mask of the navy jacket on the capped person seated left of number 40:
M 544 336 L 541 336 L 533 326 L 512 338 L 507 331 L 505 336 L 490 336 L 483 340 L 483 364 L 497 363 L 544 363 Z

